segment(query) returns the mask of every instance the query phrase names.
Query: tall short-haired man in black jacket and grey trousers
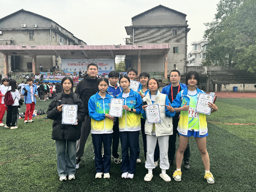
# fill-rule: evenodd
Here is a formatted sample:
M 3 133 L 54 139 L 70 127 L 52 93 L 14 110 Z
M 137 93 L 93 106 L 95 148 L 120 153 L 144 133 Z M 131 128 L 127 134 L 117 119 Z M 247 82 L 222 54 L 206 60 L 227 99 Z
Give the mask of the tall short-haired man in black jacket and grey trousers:
M 88 74 L 83 76 L 84 79 L 76 85 L 75 90 L 75 93 L 79 94 L 79 98 L 85 105 L 85 121 L 82 123 L 81 137 L 76 142 L 76 169 L 79 168 L 79 162 L 85 150 L 85 142 L 91 131 L 91 117 L 89 116 L 88 101 L 91 96 L 99 91 L 98 78 L 96 77 L 98 74 L 98 65 L 90 63 L 87 66 L 87 73 Z

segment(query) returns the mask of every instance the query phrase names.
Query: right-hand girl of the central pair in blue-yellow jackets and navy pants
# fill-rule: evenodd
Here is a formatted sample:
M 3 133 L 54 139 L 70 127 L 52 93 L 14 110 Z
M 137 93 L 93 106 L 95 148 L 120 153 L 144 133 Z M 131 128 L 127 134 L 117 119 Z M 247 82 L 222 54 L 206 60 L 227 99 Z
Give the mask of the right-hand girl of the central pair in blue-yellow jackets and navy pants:
M 139 93 L 129 89 L 130 79 L 124 75 L 119 84 L 123 91 L 117 98 L 124 99 L 122 117 L 119 117 L 119 136 L 122 146 L 122 178 L 133 178 L 136 162 L 139 131 L 141 130 L 140 112 L 142 100 Z M 130 148 L 130 159 L 129 159 Z

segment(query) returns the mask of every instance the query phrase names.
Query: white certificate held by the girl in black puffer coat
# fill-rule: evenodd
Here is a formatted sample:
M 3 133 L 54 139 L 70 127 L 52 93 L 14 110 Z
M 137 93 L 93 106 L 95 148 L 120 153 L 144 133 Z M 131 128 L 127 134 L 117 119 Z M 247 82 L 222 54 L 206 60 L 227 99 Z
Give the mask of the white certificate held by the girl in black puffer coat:
M 77 105 L 63 105 L 62 124 L 76 124 Z

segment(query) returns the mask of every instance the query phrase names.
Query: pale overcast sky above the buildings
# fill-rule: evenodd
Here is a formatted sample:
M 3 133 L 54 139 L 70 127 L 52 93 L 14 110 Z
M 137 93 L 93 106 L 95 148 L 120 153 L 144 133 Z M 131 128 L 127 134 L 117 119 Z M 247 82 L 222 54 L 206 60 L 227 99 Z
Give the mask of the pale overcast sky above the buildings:
M 203 38 L 206 27 L 212 21 L 219 0 L 16 0 L 1 1 L 0 18 L 20 9 L 52 19 L 82 39 L 88 45 L 125 44 L 128 38 L 125 26 L 131 18 L 161 4 L 187 15 L 188 51 L 193 41 Z

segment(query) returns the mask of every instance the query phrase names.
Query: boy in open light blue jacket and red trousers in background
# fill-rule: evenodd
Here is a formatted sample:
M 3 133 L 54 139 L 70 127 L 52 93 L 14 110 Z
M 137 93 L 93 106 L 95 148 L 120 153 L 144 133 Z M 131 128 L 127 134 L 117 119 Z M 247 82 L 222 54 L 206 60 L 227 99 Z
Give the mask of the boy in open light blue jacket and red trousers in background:
M 34 122 L 32 120 L 32 116 L 35 110 L 36 97 L 38 95 L 38 92 L 36 90 L 36 85 L 32 85 L 32 83 L 33 83 L 33 80 L 31 78 L 28 78 L 27 86 L 24 87 L 26 90 L 22 89 L 22 95 L 24 95 L 24 103 L 26 105 L 24 123 Z M 27 120 L 28 115 L 29 115 L 29 120 Z

